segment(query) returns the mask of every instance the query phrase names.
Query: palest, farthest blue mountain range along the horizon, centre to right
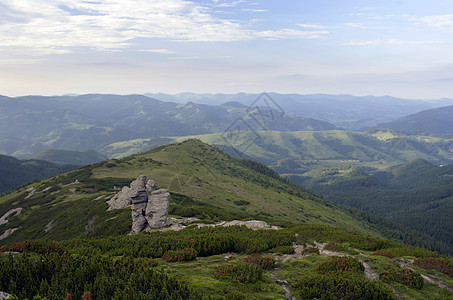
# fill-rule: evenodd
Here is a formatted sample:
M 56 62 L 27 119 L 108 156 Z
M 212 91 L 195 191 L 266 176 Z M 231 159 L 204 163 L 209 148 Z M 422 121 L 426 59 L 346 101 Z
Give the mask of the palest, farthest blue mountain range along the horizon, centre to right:
M 252 104 L 260 94 L 194 94 L 181 93 L 145 94 L 147 96 L 177 103 L 194 102 L 219 105 L 236 101 L 244 105 Z M 453 99 L 409 100 L 390 96 L 351 96 L 328 94 L 279 94 L 268 93 L 272 100 L 284 111 L 298 116 L 310 117 L 330 122 L 337 127 L 361 130 L 379 123 L 392 121 L 422 110 L 453 104 Z

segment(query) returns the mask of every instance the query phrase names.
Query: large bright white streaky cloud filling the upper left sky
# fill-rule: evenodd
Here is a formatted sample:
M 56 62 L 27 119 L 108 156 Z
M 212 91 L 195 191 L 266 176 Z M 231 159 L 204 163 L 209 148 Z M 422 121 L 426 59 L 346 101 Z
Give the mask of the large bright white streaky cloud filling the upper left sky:
M 214 5 L 242 2 L 214 1 Z M 241 21 L 215 17 L 209 7 L 185 0 L 3 0 L 2 7 L 0 20 L 7 21 L 0 22 L 0 48 L 10 48 L 10 53 L 28 48 L 34 55 L 68 52 L 73 47 L 119 51 L 137 38 L 228 42 L 327 34 L 289 28 L 249 30 Z M 20 19 L 8 21 L 19 15 Z

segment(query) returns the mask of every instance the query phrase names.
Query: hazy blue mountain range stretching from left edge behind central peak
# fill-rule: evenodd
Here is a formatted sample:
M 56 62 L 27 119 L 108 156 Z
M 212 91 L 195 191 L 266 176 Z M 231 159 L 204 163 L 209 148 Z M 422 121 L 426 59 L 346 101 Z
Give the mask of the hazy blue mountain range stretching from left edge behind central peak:
M 278 107 L 163 102 L 140 95 L 27 96 L 0 99 L 0 153 L 100 149 L 113 142 L 226 130 L 330 130 L 328 122 Z

